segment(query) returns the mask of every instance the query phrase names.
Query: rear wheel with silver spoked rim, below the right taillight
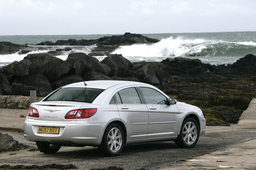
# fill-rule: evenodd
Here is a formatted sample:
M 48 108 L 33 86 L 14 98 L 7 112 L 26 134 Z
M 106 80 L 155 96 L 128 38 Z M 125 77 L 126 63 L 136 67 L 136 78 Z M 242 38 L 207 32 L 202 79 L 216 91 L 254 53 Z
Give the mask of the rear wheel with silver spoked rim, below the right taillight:
M 100 152 L 105 156 L 118 156 L 125 143 L 123 129 L 118 124 L 110 124 L 102 137 L 100 146 L 98 146 Z

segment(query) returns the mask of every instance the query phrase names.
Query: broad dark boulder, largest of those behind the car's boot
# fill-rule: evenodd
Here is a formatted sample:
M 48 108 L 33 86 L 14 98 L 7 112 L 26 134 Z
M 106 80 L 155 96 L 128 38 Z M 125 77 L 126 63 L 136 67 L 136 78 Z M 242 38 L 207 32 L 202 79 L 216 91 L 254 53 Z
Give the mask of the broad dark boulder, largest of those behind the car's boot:
M 68 62 L 45 53 L 29 54 L 24 60 L 29 60 L 33 65 L 33 72 L 44 75 L 50 83 L 74 72 Z

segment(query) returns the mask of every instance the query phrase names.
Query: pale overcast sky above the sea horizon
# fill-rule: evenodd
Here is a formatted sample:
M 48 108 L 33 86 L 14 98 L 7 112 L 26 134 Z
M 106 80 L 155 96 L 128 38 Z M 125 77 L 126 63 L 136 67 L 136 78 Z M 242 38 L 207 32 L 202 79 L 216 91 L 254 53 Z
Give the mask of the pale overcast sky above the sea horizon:
M 256 0 L 0 0 L 0 35 L 256 31 Z

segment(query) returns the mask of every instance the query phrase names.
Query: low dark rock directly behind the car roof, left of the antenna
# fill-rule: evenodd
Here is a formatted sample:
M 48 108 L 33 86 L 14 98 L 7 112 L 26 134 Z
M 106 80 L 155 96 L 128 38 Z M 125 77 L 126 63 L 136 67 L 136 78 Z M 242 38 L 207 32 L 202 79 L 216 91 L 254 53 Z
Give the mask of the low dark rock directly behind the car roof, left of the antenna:
M 65 86 L 67 84 L 77 83 L 77 82 L 81 82 L 81 81 L 84 81 L 84 80 L 79 75 L 68 75 L 68 76 L 62 77 L 62 78 L 58 79 L 57 81 L 55 81 L 54 83 L 52 83 L 52 89 L 56 90 L 56 89 L 58 89 L 62 86 Z

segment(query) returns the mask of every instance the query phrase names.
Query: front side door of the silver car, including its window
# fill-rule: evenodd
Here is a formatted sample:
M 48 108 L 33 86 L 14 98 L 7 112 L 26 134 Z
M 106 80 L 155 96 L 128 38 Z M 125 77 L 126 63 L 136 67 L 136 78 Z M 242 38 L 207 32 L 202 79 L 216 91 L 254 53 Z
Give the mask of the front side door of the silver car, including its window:
M 139 87 L 149 110 L 147 138 L 173 137 L 178 131 L 178 108 L 168 105 L 168 98 L 151 87 Z

